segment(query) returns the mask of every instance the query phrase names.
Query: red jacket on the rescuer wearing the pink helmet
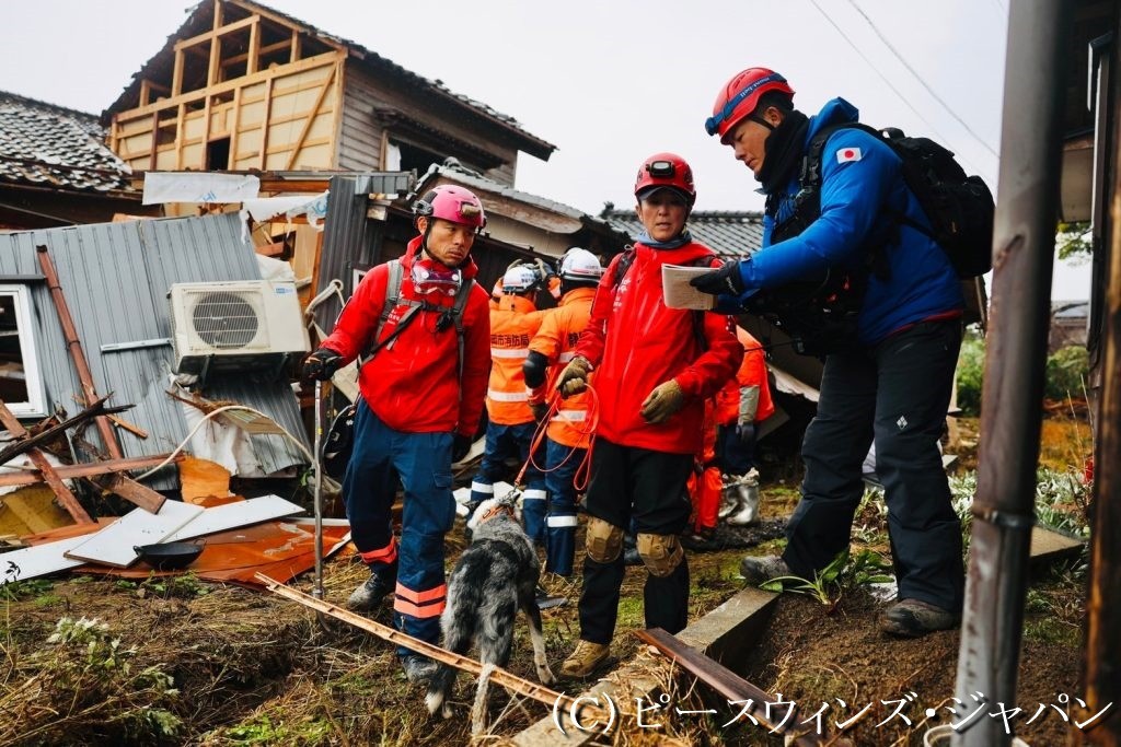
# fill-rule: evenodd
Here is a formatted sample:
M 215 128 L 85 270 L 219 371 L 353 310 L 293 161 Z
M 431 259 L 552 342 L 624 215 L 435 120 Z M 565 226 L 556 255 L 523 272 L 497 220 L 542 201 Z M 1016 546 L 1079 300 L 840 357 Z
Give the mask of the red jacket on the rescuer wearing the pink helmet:
M 419 298 L 413 288 L 413 263 L 420 252 L 420 236 L 409 242 L 401 258 L 404 277 L 400 300 Z M 464 280 L 479 269 L 469 258 Z M 389 268 L 379 264 L 362 278 L 346 301 L 323 347 L 351 362 L 367 349 L 378 328 L 386 300 Z M 454 299 L 444 299 L 451 308 Z M 409 310 L 398 304 L 381 330 L 387 338 Z M 490 310 L 488 295 L 478 283 L 463 309 L 463 375 L 458 373 L 458 336 L 454 324 L 436 332 L 442 308 L 421 309 L 389 345 L 368 361 L 359 374 L 365 403 L 387 426 L 406 433 L 455 431 L 474 436 L 482 414 L 490 373 Z

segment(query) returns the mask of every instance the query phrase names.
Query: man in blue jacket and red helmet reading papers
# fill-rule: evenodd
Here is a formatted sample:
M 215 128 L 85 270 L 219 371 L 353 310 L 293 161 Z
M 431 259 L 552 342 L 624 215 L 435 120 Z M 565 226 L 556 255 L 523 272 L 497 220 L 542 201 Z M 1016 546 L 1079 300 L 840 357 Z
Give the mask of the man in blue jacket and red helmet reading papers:
M 751 67 L 721 90 L 705 123 L 762 184 L 767 208 L 763 248 L 693 283 L 717 295 L 724 311 L 777 304 L 779 318 L 791 315 L 787 332 L 825 357 L 787 548 L 781 557 L 744 558 L 741 572 L 752 583 L 813 578 L 844 550 L 874 441 L 899 585 L 881 627 L 921 636 L 957 625 L 963 600 L 962 527 L 937 448 L 961 346 L 961 287 L 921 231 L 929 222 L 899 157 L 871 133 L 836 127 L 855 122 L 856 109 L 834 99 L 806 116 L 793 97 L 781 75 Z M 827 134 L 814 200 L 803 170 L 818 133 Z M 828 282 L 828 293 L 806 290 Z M 793 289 L 803 296 L 791 305 Z

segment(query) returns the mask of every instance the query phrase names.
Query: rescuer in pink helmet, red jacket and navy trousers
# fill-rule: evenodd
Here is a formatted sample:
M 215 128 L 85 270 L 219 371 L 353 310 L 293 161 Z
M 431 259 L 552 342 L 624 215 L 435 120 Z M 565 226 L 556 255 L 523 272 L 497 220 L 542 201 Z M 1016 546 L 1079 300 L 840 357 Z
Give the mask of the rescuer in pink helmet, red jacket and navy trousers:
M 343 496 L 370 578 L 348 606 L 371 611 L 395 592 L 393 625 L 438 643 L 444 535 L 455 520 L 452 463 L 471 446 L 490 370 L 488 293 L 474 281 L 471 259 L 485 217 L 479 198 L 454 185 L 432 189 L 413 211 L 420 235 L 392 261 L 399 272 L 387 262 L 365 274 L 334 330 L 305 361 L 304 375 L 326 381 L 355 357 L 368 358 Z M 388 287 L 395 273 L 396 289 Z M 396 304 L 387 304 L 390 298 Z M 405 488 L 400 542 L 390 524 L 395 476 Z M 397 653 L 410 682 L 435 671 L 427 657 L 404 647 Z

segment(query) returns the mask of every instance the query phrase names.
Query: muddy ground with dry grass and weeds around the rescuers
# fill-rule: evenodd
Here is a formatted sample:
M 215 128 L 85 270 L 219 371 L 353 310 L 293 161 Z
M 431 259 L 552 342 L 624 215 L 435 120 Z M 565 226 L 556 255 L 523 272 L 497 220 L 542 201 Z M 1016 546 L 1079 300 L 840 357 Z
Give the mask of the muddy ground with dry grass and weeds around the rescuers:
M 1085 422 L 1055 422 L 1059 424 L 1049 427 L 1055 433 L 1045 431 L 1044 460 L 1081 470 L 1078 455 L 1084 451 L 1076 438 L 1088 443 Z M 976 429 L 975 422 L 962 424 L 960 451 L 967 467 L 975 459 L 970 449 Z M 781 524 L 797 498 L 796 479 L 780 478 L 772 475 L 763 485 L 765 516 L 772 521 L 768 529 Z M 874 523 L 874 505 L 867 511 L 864 519 Z M 762 542 L 748 552 L 781 547 L 782 540 L 766 539 L 776 533 L 760 532 L 753 539 Z M 450 535 L 452 558 L 462 547 L 460 536 L 457 525 Z M 861 536 L 870 549 L 887 550 L 874 532 Z M 854 551 L 863 547 L 856 542 Z M 736 569 L 743 553 L 740 548 L 691 553 L 691 617 L 742 588 Z M 353 555 L 331 560 L 326 598 L 341 604 L 364 576 Z M 642 578 L 640 569 L 627 572 L 612 644 L 615 662 L 637 650 L 631 631 L 642 626 Z M 300 578 L 295 586 L 309 591 L 312 579 Z M 546 586 L 569 598 L 567 606 L 545 614 L 549 661 L 557 669 L 578 637 L 578 581 L 554 577 Z M 1075 559 L 1040 569 L 1029 591 L 1018 682 L 1018 706 L 1025 712 L 1017 722 L 1029 744 L 1062 744 L 1069 735 L 1071 727 L 1050 708 L 1034 723 L 1025 721 L 1039 704 L 1059 702 L 1063 693 L 1072 700 L 1082 694 L 1084 587 L 1085 563 Z M 830 604 L 782 595 L 742 673 L 797 702 L 799 720 L 812 718 L 823 703 L 832 709 L 824 715 L 826 725 L 871 704 L 844 735 L 853 744 L 921 744 L 925 728 L 952 717 L 947 707 L 953 704 L 960 638 L 956 631 L 920 641 L 888 638 L 876 625 L 887 604 L 859 585 L 832 595 Z M 59 627 L 63 618 L 83 617 L 98 624 Z M 388 622 L 388 613 L 376 619 Z M 510 669 L 534 678 L 521 627 Z M 560 683 L 558 689 L 573 692 L 581 684 Z M 674 707 L 719 704 L 703 704 L 702 692 L 678 680 Z M 421 691 L 400 673 L 390 644 L 342 624 L 324 629 L 314 614 L 271 594 L 204 583 L 189 575 L 141 583 L 63 575 L 33 579 L 0 597 L 0 745 L 465 745 L 472 693 L 467 676 L 461 676 L 457 718 L 433 720 Z M 897 717 L 876 726 L 893 711 L 890 701 L 900 699 L 907 700 L 901 713 L 911 725 Z M 479 744 L 502 744 L 547 715 L 536 702 L 511 703 L 498 687 L 490 702 L 491 734 Z M 624 722 L 613 741 L 780 744 L 749 723 L 722 726 L 735 716 L 730 708 L 661 719 L 660 729 Z M 933 719 L 925 718 L 928 708 L 936 711 Z

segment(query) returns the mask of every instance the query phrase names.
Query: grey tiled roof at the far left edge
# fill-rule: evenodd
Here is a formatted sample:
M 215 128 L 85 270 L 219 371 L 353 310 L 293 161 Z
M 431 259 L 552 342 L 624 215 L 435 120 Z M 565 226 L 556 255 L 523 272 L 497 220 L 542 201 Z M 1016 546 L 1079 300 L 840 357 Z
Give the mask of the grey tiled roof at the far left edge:
M 0 92 L 0 180 L 110 193 L 128 190 L 129 175 L 95 115 Z

